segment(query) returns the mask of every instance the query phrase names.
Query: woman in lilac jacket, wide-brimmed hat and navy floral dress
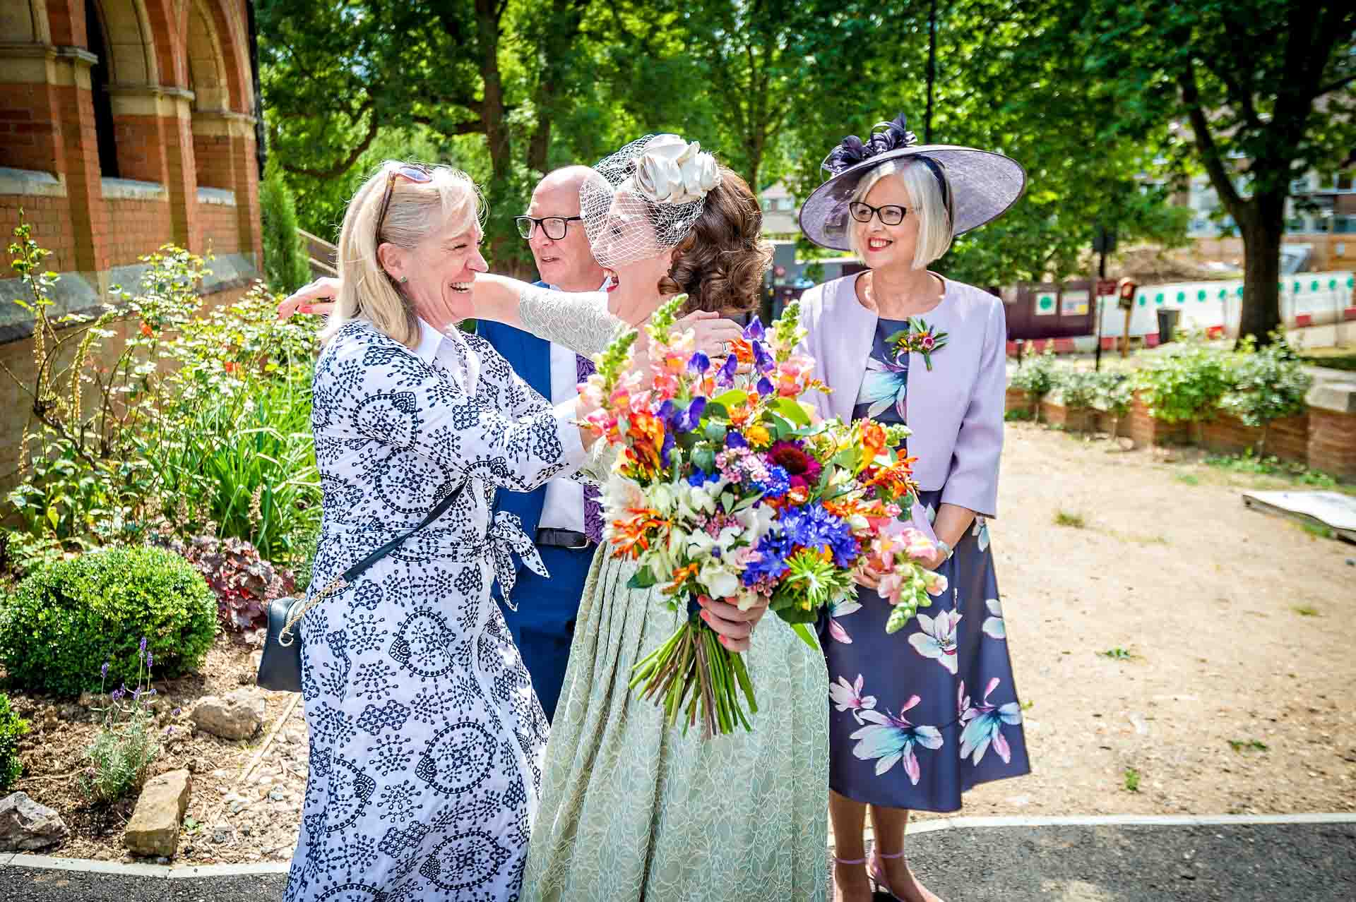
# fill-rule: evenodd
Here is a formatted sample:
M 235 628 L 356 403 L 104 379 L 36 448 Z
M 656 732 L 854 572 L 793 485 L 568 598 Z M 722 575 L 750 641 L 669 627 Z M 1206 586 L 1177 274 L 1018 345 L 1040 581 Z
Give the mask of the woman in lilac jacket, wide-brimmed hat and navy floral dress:
M 1029 771 L 986 517 L 997 512 L 1003 440 L 1002 302 L 930 272 L 952 237 L 1021 196 L 1001 154 L 917 145 L 903 116 L 829 154 L 833 173 L 801 207 L 816 244 L 853 249 L 864 274 L 805 293 L 805 349 L 831 390 L 824 417 L 907 423 L 919 507 L 948 589 L 903 630 L 871 576 L 820 624 L 830 680 L 830 818 L 842 902 L 932 902 L 909 869 L 909 811 L 955 811 L 961 792 Z M 876 845 L 862 842 L 871 809 Z M 868 879 L 869 875 L 869 879 Z

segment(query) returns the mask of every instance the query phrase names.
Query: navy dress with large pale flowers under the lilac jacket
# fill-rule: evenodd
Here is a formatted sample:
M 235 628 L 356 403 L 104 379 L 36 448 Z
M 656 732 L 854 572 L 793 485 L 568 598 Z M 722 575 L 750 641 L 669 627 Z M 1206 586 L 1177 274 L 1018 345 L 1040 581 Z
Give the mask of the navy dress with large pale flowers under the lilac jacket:
M 904 423 L 909 355 L 880 320 L 854 417 Z M 942 351 L 945 353 L 945 351 Z M 929 517 L 942 490 L 921 492 Z M 890 603 L 858 588 L 820 622 L 829 662 L 829 786 L 857 802 L 956 811 L 961 792 L 1031 771 L 989 527 L 976 517 L 938 572 L 948 589 L 885 634 Z

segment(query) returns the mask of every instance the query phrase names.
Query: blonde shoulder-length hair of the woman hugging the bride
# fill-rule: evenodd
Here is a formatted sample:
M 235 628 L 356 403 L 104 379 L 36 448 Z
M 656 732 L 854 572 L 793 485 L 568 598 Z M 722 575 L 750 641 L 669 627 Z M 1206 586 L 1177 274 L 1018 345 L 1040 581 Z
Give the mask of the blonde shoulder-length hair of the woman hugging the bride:
M 393 175 L 403 165 L 426 171 L 428 181 L 411 181 Z M 377 234 L 377 217 L 391 181 L 391 205 Z M 367 320 L 380 332 L 407 348 L 419 344 L 419 320 L 408 298 L 381 265 L 377 249 L 382 244 L 412 251 L 426 238 L 450 228 L 469 232 L 484 222 L 485 205 L 480 188 L 461 169 L 423 167 L 386 160 L 348 202 L 339 232 L 339 297 L 330 321 L 320 333 L 328 341 L 350 320 Z

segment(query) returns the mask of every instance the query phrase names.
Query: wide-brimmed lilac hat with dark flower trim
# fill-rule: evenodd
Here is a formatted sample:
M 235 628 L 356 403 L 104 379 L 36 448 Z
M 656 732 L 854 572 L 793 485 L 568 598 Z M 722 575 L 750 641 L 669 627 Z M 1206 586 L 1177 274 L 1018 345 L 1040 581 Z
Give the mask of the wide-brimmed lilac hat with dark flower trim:
M 829 179 L 800 207 L 800 230 L 823 248 L 850 251 L 848 205 L 861 180 L 890 160 L 921 157 L 942 186 L 952 234 L 964 234 L 1006 213 L 1026 188 L 1026 171 L 1012 157 L 951 144 L 918 144 L 904 116 L 876 126 L 866 141 L 848 135 L 820 164 Z

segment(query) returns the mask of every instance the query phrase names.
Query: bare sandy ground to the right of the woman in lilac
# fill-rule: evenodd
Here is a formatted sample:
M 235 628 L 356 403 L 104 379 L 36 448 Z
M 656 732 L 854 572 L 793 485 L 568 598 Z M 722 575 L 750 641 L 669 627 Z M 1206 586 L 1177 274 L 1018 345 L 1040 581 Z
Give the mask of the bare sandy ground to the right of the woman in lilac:
M 1288 484 L 1013 423 L 999 486 L 1033 773 L 964 814 L 1356 811 L 1356 547 L 1243 508 Z

